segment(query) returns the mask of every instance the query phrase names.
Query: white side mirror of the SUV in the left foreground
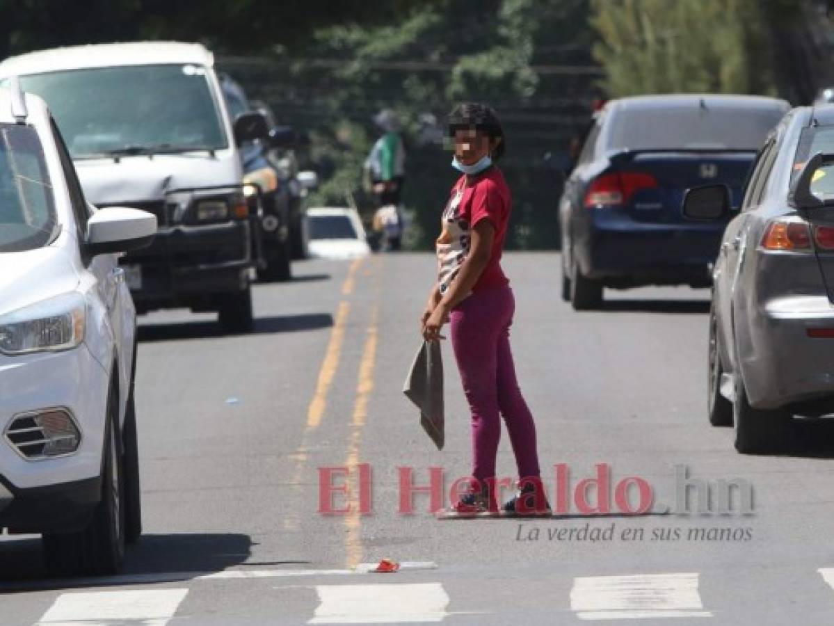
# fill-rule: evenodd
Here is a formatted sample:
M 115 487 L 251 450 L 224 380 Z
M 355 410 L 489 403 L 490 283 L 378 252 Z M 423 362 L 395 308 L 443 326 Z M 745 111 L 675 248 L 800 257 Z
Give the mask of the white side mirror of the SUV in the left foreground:
M 146 248 L 157 232 L 153 213 L 137 208 L 100 208 L 88 219 L 85 250 L 92 254 L 130 252 Z

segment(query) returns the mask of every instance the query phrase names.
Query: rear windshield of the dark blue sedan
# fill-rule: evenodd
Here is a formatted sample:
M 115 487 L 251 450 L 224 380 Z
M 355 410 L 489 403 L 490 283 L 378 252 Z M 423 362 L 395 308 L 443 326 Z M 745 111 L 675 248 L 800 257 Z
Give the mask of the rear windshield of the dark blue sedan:
M 784 115 L 781 109 L 642 108 L 616 111 L 608 149 L 758 150 Z

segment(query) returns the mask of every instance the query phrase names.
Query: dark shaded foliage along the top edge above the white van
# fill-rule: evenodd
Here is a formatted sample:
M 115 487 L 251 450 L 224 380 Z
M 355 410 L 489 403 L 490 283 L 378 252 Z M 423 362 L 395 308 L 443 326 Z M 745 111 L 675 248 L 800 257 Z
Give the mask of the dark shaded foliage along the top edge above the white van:
M 385 23 L 437 0 L 0 0 L 0 57 L 83 43 L 175 39 L 219 52 L 294 45 L 332 23 Z

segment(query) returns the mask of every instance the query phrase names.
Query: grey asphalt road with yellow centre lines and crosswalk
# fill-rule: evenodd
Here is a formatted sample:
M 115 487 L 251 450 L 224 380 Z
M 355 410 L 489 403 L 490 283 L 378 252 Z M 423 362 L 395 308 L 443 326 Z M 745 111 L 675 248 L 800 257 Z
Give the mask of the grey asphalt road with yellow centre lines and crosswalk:
M 604 310 L 575 313 L 558 268 L 556 254 L 505 258 L 551 503 L 555 466 L 570 472 L 564 514 L 438 521 L 428 494 L 399 513 L 398 468 L 418 484 L 442 468 L 447 489 L 470 468 L 450 345 L 443 451 L 401 392 L 435 260 L 298 263 L 292 283 L 255 290 L 254 333 L 223 336 L 211 315 L 141 319 L 145 534 L 109 580 L 50 580 L 37 538 L 0 538 L 0 623 L 830 624 L 834 425 L 796 423 L 785 456 L 737 454 L 732 429 L 706 421 L 708 293 L 609 291 Z M 367 515 L 356 510 L 364 463 Z M 611 510 L 586 517 L 573 496 L 598 464 Z M 319 468 L 340 467 L 354 511 L 320 514 Z M 515 474 L 506 431 L 498 470 Z M 718 489 L 714 512 L 720 481 L 736 480 L 736 508 L 698 513 L 693 483 L 686 513 L 676 471 Z M 620 505 L 636 508 L 643 481 L 646 514 L 615 503 L 626 477 Z M 593 486 L 587 495 L 595 503 Z M 367 572 L 381 558 L 402 568 Z

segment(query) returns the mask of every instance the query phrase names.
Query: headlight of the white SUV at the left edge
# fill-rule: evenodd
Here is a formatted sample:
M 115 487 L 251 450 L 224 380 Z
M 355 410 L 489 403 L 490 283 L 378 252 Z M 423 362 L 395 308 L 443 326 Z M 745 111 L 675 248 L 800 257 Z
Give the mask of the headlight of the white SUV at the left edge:
M 80 293 L 18 308 L 0 316 L 0 352 L 27 354 L 75 348 L 84 340 L 87 305 Z

